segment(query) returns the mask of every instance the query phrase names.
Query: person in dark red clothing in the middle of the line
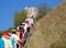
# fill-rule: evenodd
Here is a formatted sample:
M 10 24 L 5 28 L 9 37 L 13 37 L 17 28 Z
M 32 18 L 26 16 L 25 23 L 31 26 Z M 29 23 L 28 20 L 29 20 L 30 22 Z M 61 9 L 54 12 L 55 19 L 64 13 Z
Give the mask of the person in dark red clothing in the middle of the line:
M 24 23 L 21 23 L 20 27 L 19 27 L 20 28 L 20 39 L 21 39 L 22 47 L 24 47 L 24 44 L 25 44 L 24 25 L 25 25 Z

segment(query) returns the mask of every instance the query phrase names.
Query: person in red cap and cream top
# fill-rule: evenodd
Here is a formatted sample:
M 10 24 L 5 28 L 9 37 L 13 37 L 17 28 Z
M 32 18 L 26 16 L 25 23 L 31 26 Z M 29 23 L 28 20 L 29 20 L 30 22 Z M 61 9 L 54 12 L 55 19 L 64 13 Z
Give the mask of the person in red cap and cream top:
M 4 35 L 2 37 L 3 41 L 4 41 L 4 48 L 12 48 L 11 45 L 11 40 L 10 40 L 10 33 L 9 32 L 4 32 Z

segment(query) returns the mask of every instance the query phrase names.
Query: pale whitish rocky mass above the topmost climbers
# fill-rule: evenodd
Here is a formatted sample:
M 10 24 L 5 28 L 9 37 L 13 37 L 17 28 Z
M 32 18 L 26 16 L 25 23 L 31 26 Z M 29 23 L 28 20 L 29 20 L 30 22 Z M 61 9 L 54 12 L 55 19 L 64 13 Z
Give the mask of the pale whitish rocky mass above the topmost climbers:
M 28 17 L 36 17 L 37 16 L 37 13 L 38 13 L 38 9 L 35 8 L 35 7 L 32 7 L 32 8 L 25 8 L 25 10 L 28 11 Z

